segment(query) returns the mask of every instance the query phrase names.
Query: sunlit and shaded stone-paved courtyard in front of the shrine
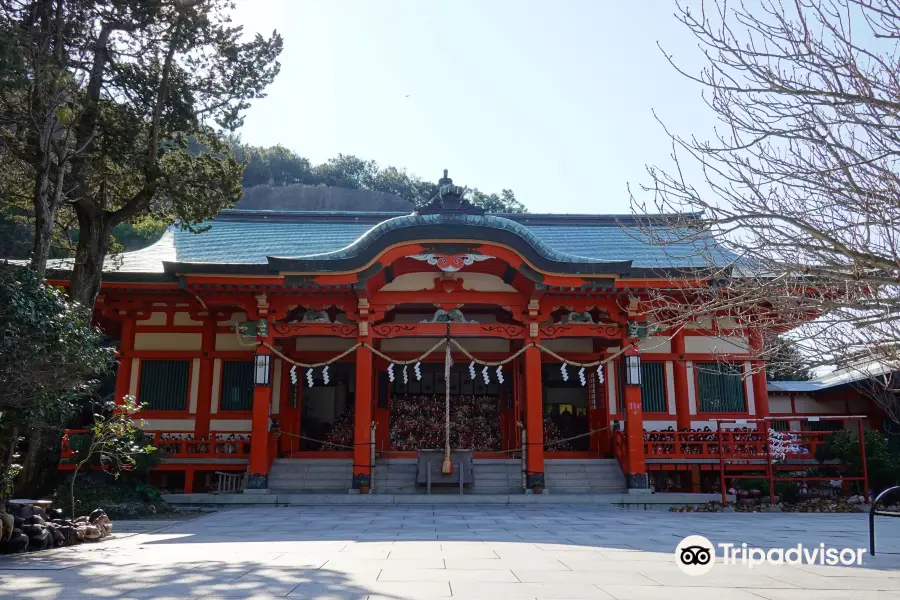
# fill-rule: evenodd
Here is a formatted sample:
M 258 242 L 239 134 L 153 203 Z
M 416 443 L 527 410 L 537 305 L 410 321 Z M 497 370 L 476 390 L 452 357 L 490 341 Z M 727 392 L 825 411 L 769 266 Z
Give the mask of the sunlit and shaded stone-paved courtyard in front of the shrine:
M 589 506 L 292 507 L 219 512 L 99 544 L 0 558 L 0 597 L 900 599 L 900 554 L 862 568 L 717 564 L 680 539 L 866 545 L 866 515 L 671 514 Z M 900 553 L 900 519 L 880 547 Z

